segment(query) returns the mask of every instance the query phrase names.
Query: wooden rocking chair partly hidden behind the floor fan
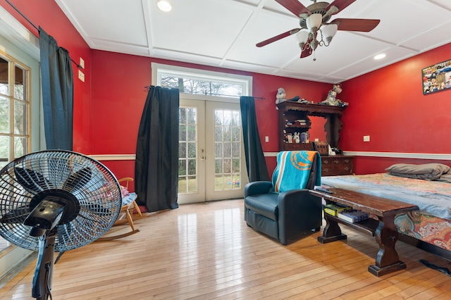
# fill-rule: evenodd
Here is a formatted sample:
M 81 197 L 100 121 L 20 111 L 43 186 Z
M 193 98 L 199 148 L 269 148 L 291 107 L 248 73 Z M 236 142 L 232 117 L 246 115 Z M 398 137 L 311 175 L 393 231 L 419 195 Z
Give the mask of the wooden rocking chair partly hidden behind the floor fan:
M 123 177 L 121 179 L 118 180 L 118 182 L 121 184 L 123 182 L 125 182 L 123 184 L 123 186 L 128 189 L 128 184 L 129 182 L 132 182 L 133 178 L 132 177 Z M 135 229 L 135 224 L 133 224 L 134 220 L 137 220 L 138 218 L 142 218 L 143 215 L 140 211 L 140 206 L 137 205 L 136 203 L 136 198 L 137 196 L 135 195 L 134 199 L 128 199 L 128 204 L 124 204 L 121 207 L 121 212 L 119 213 L 119 217 L 118 220 L 116 220 L 116 222 L 113 224 L 113 226 L 116 225 L 124 225 L 127 224 L 130 225 L 130 227 L 132 228 L 131 232 L 126 232 L 122 235 L 112 235 L 112 236 L 106 236 L 106 237 L 100 237 L 99 239 L 97 239 L 97 241 L 101 242 L 101 241 L 111 241 L 112 239 L 120 239 L 122 237 L 128 237 L 129 235 L 134 235 L 137 232 L 140 232 L 139 229 Z M 137 216 L 135 218 L 133 218 L 133 212 L 136 211 Z

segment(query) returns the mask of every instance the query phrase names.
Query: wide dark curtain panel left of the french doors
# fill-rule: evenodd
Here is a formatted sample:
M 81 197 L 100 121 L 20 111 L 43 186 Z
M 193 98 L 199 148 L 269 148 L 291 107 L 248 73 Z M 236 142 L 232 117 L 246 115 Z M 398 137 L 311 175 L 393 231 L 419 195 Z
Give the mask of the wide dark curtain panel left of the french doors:
M 178 208 L 178 89 L 150 87 L 138 130 L 135 192 L 147 211 Z

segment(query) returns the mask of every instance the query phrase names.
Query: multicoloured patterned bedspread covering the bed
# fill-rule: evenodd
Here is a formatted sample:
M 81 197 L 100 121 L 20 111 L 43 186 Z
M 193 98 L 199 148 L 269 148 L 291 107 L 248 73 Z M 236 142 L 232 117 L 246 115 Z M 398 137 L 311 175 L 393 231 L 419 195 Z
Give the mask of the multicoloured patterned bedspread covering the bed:
M 323 185 L 404 201 L 420 211 L 395 218 L 398 232 L 451 250 L 451 184 L 397 177 L 388 173 L 322 177 Z

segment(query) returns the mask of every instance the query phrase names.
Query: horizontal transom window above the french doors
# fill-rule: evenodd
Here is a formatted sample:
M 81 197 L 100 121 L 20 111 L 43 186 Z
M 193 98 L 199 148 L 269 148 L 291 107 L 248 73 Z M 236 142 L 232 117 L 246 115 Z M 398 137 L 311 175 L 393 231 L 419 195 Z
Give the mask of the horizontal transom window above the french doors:
M 156 85 L 182 94 L 238 98 L 249 95 L 252 77 L 152 63 Z

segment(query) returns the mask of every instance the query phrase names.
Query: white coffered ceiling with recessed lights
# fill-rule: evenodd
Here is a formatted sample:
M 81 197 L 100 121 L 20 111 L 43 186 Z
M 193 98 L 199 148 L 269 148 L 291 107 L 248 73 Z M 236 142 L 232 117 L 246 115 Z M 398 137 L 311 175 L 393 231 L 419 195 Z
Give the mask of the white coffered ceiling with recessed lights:
M 331 20 L 381 23 L 367 33 L 339 31 L 330 46 L 316 49 L 316 61 L 299 58 L 295 36 L 255 46 L 299 27 L 275 0 L 170 1 L 169 13 L 159 11 L 156 0 L 56 3 L 92 49 L 318 82 L 342 82 L 451 42 L 450 0 L 357 0 Z M 387 56 L 375 61 L 380 53 Z

